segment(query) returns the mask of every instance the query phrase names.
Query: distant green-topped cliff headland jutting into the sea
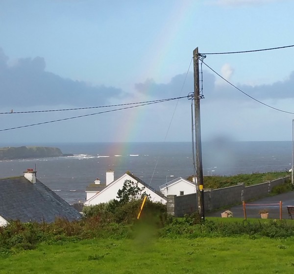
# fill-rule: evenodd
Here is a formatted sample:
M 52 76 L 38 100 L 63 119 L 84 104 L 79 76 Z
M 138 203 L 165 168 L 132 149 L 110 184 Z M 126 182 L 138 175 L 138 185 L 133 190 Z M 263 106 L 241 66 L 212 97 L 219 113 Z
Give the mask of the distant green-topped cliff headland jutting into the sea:
M 0 148 L 0 160 L 25 159 L 25 158 L 46 158 L 69 156 L 72 154 L 63 154 L 58 148 L 50 147 L 8 147 Z

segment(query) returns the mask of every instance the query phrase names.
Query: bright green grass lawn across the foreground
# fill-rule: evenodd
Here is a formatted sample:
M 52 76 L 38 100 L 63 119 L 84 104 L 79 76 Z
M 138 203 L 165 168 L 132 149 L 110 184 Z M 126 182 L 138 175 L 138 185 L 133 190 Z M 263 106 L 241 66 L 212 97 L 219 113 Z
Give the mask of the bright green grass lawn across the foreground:
M 84 240 L 0 257 L 0 274 L 290 274 L 294 239 Z

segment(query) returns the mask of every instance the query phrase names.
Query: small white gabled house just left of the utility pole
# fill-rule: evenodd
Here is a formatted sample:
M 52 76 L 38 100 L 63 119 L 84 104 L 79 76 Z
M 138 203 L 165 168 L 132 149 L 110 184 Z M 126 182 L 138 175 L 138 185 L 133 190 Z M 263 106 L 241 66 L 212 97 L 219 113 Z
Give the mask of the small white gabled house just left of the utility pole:
M 196 184 L 182 177 L 173 179 L 172 181 L 160 186 L 160 191 L 164 196 L 196 193 Z

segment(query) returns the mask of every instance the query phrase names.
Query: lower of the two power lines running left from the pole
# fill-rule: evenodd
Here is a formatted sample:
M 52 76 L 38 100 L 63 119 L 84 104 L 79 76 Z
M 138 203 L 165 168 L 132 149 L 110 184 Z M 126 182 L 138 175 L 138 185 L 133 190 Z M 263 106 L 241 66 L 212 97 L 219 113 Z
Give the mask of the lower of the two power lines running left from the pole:
M 0 129 L 0 131 L 7 131 L 7 130 L 12 130 L 12 129 L 30 127 L 30 126 L 34 126 L 34 125 L 45 125 L 45 124 L 50 124 L 50 123 L 55 123 L 55 122 L 67 121 L 67 120 L 72 120 L 72 119 L 76 119 L 76 118 L 93 116 L 93 115 L 98 115 L 98 114 L 102 114 L 102 113 L 114 112 L 114 111 L 118 111 L 118 110 L 130 109 L 130 108 L 134 108 L 134 107 L 139 107 L 139 106 L 144 106 L 144 105 L 149 105 L 149 104 L 156 104 L 156 103 L 160 103 L 160 102 L 166 102 L 166 101 L 177 100 L 177 99 L 182 99 L 182 98 L 187 98 L 187 96 L 178 97 L 178 98 L 163 99 L 163 100 L 156 100 L 156 101 L 151 101 L 151 102 L 148 102 L 148 103 L 143 103 L 143 104 L 140 104 L 140 105 L 132 105 L 132 106 L 118 108 L 118 109 L 111 109 L 111 110 L 101 111 L 101 112 L 97 112 L 97 113 L 79 115 L 79 116 L 63 118 L 63 119 L 58 119 L 58 120 L 52 120 L 52 121 L 47 121 L 47 122 L 41 122 L 41 123 L 36 123 L 36 124 L 31 124 L 31 125 L 15 126 L 15 127 L 10 127 L 10 128 Z

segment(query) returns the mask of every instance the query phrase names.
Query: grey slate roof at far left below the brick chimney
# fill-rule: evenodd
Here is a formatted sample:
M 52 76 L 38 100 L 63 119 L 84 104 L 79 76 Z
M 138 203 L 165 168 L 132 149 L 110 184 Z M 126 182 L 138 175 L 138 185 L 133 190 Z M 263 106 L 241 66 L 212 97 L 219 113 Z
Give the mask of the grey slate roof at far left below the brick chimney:
M 0 216 L 6 221 L 43 221 L 56 218 L 81 219 L 80 213 L 38 179 L 31 183 L 24 176 L 0 179 Z

